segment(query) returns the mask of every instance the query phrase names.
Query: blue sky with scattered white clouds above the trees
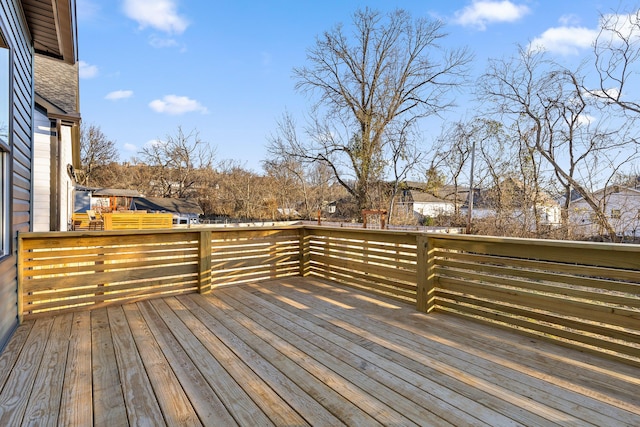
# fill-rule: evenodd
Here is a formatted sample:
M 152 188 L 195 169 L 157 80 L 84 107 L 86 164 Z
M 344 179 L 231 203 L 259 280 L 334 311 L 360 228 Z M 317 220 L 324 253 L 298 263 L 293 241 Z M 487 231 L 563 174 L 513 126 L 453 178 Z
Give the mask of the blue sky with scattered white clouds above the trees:
M 615 3 L 615 4 L 613 4 Z M 80 109 L 85 124 L 116 142 L 120 160 L 148 143 L 197 130 L 233 159 L 261 172 L 267 137 L 286 111 L 299 120 L 311 102 L 294 90 L 293 67 L 305 64 L 315 37 L 351 22 L 362 7 L 403 8 L 446 22 L 447 47 L 487 58 L 517 44 L 543 45 L 555 59 L 588 54 L 607 0 L 77 0 Z M 468 103 L 443 120 L 469 115 Z M 430 127 L 440 133 L 440 125 Z M 430 133 L 430 130 L 425 131 Z

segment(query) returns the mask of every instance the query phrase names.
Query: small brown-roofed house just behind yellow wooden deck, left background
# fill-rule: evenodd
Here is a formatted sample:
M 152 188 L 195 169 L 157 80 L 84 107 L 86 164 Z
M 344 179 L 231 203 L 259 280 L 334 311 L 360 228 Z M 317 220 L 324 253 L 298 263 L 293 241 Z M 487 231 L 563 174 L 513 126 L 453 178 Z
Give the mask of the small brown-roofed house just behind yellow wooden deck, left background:
M 128 210 L 136 197 L 144 197 L 144 194 L 120 188 L 76 186 L 74 212 L 86 212 L 89 209 L 97 212 Z

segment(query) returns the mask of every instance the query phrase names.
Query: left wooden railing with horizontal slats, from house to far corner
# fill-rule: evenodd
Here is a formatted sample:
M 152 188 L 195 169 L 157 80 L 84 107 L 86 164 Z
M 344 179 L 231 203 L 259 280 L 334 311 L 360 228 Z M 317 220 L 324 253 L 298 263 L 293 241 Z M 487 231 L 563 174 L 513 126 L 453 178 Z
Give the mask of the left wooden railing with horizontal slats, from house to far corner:
M 297 229 L 24 233 L 25 318 L 299 274 Z

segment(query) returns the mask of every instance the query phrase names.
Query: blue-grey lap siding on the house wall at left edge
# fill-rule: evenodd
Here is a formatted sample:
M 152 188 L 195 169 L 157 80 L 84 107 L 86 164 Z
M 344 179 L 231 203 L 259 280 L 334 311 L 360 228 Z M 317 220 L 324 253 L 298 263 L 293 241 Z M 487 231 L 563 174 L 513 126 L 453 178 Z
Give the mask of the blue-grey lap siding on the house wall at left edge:
M 33 51 L 15 0 L 0 2 L 0 31 L 10 49 L 10 254 L 0 260 L 0 348 L 18 325 L 17 234 L 31 224 Z

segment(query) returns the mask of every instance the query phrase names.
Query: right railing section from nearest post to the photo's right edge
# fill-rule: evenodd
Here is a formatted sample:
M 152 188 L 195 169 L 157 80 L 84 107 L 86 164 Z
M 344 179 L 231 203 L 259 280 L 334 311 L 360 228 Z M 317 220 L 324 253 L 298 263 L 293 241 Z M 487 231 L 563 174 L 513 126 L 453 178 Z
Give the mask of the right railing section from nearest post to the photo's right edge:
M 423 304 L 640 365 L 640 245 L 429 236 Z

